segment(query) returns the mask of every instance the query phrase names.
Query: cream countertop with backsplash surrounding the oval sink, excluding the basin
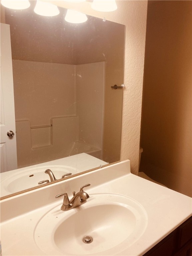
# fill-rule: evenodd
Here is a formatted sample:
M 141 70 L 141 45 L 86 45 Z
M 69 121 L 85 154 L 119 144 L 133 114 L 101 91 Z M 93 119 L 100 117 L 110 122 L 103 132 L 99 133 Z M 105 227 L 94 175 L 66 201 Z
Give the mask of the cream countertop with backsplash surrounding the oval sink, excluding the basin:
M 90 198 L 95 193 L 127 196 L 145 209 L 148 218 L 146 230 L 134 244 L 115 254 L 112 250 L 110 254 L 102 252 L 95 255 L 143 255 L 192 216 L 192 198 L 131 174 L 127 160 L 2 200 L 2 254 L 48 255 L 35 243 L 34 228 L 49 209 L 62 204 L 63 199 L 55 199 L 57 194 L 67 192 L 71 198 L 73 190 L 78 191 L 87 183 L 91 184 L 86 188 Z M 88 200 L 86 204 L 89 204 Z

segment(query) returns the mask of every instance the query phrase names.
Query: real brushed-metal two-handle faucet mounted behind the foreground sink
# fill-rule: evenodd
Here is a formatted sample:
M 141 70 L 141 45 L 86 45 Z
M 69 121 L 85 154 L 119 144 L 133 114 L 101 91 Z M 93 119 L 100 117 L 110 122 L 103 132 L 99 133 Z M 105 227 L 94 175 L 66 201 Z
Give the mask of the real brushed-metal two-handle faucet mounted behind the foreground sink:
M 88 187 L 88 186 L 90 186 L 90 184 L 86 184 L 86 185 L 82 186 L 80 188 L 80 191 L 77 194 L 75 194 L 75 191 L 73 191 L 73 198 L 70 201 L 69 201 L 67 193 L 62 193 L 62 194 L 57 195 L 55 198 L 64 196 L 61 210 L 68 211 L 70 209 L 73 209 L 75 207 L 78 207 L 78 206 L 84 204 L 87 201 L 86 199 L 89 198 L 89 195 L 85 191 L 83 191 L 83 188 Z

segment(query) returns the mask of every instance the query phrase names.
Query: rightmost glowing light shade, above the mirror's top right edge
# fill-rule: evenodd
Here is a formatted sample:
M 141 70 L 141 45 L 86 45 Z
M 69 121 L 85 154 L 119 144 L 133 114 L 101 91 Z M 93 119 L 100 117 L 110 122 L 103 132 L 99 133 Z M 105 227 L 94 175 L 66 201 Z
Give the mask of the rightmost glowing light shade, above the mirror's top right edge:
M 100 12 L 112 12 L 117 10 L 115 0 L 93 0 L 91 8 Z

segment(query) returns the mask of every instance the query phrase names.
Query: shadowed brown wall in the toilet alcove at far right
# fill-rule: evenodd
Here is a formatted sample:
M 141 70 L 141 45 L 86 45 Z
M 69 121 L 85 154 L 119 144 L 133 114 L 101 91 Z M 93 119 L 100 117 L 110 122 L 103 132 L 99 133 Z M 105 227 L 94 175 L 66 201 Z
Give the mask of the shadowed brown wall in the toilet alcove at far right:
M 192 1 L 149 1 L 141 169 L 192 196 Z

